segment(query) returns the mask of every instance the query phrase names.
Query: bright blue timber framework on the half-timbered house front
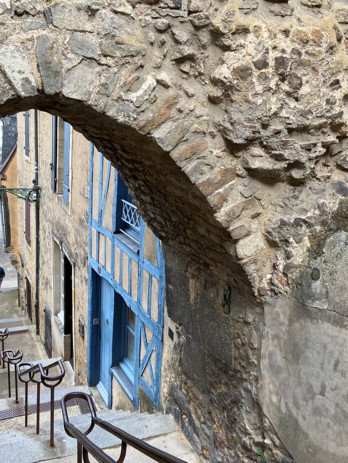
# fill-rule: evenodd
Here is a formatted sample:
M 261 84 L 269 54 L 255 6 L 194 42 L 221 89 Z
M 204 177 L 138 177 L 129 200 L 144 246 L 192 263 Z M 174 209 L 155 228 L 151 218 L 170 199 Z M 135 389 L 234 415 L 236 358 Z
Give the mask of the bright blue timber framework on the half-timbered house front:
M 94 147 L 90 146 L 90 171 L 89 171 L 89 230 L 88 230 L 88 361 L 87 361 L 87 380 L 90 386 L 97 384 L 98 382 L 98 362 L 99 362 L 99 339 L 98 339 L 98 325 L 93 324 L 93 319 L 98 318 L 98 278 L 105 278 L 113 287 L 115 292 L 119 294 L 126 305 L 136 315 L 136 327 L 135 327 L 135 362 L 134 362 L 134 390 L 133 397 L 131 399 L 134 409 L 139 408 L 139 397 L 138 389 L 142 387 L 144 392 L 150 397 L 156 408 L 159 408 L 160 404 L 160 385 L 161 385 L 161 364 L 162 364 L 162 335 L 163 335 L 163 311 L 164 311 L 164 297 L 165 297 L 165 263 L 161 249 L 161 243 L 156 238 L 156 251 L 157 251 L 157 266 L 153 265 L 144 257 L 144 237 L 145 237 L 145 222 L 141 220 L 140 224 L 140 247 L 139 254 L 128 248 L 117 236 L 113 233 L 116 230 L 116 220 L 119 214 L 117 198 L 117 171 L 115 170 L 114 180 L 114 191 L 113 191 L 113 206 L 112 206 L 112 230 L 108 230 L 103 226 L 103 218 L 106 207 L 106 198 L 109 190 L 111 163 L 108 163 L 106 172 L 106 182 L 103 191 L 103 155 L 100 154 L 99 158 L 99 185 L 98 188 L 93 189 L 93 169 L 94 169 Z M 93 190 L 98 195 L 98 214 L 97 220 L 92 217 L 92 204 L 93 204 Z M 92 230 L 96 231 L 96 256 L 92 257 Z M 110 272 L 106 270 L 106 238 L 111 241 L 111 263 Z M 104 255 L 99 258 L 99 242 L 100 239 L 104 239 Z M 119 282 L 114 279 L 115 269 L 115 248 L 119 248 L 120 251 L 120 270 L 119 270 Z M 123 259 L 129 260 L 128 265 L 128 291 L 122 287 L 122 270 L 123 270 Z M 99 262 L 100 263 L 99 263 Z M 138 291 L 137 300 L 131 297 L 131 265 L 132 261 L 138 264 Z M 148 310 L 144 310 L 142 307 L 143 297 L 143 279 L 144 270 L 149 273 L 149 288 L 148 288 Z M 159 299 L 158 299 L 158 314 L 157 320 L 151 317 L 151 301 L 152 301 L 152 284 L 156 278 L 159 282 Z M 113 319 L 113 317 L 111 317 Z M 148 341 L 146 329 L 148 332 L 151 331 L 152 339 Z M 141 358 L 141 343 L 144 346 L 145 353 Z M 154 349 L 155 352 L 154 352 Z M 114 350 L 112 347 L 111 351 Z M 150 357 L 155 354 L 155 364 L 152 365 Z M 110 375 L 109 375 L 109 397 L 111 398 L 111 362 L 110 359 Z M 150 383 L 145 379 L 144 372 L 148 366 L 150 375 Z M 122 385 L 121 385 L 122 386 Z M 126 391 L 125 391 L 126 392 Z M 111 407 L 111 403 L 108 404 Z

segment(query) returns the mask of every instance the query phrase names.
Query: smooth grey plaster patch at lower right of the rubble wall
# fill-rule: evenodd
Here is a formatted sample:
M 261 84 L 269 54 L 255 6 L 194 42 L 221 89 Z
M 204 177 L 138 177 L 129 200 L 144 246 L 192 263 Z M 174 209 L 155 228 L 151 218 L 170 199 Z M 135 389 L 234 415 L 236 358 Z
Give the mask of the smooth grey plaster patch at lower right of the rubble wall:
M 338 410 L 347 406 L 339 387 L 346 375 L 340 346 L 347 329 L 347 243 L 346 232 L 334 232 L 322 243 L 323 254 L 302 269 L 298 290 L 265 304 L 259 398 L 297 462 L 345 459 L 346 446 L 334 441 L 345 433 L 346 411 Z M 297 378 L 296 384 L 289 384 L 289 377 Z M 335 423 L 335 431 L 328 422 Z M 298 440 L 299 432 L 306 433 L 305 441 Z

